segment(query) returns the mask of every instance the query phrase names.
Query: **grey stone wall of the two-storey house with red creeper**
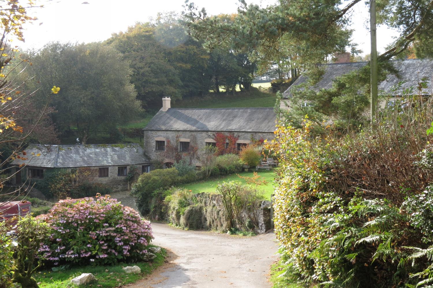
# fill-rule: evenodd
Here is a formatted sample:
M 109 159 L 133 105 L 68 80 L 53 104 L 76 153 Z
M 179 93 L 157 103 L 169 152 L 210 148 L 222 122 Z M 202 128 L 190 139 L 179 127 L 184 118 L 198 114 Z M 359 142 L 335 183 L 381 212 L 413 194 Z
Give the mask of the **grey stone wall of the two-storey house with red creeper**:
M 173 156 L 171 153 L 166 151 L 156 151 L 155 141 L 165 140 L 167 148 L 167 140 L 170 141 L 171 145 L 175 146 L 176 151 L 178 149 L 178 141 L 189 141 L 191 147 L 197 147 L 197 156 L 193 159 L 193 165 L 201 166 L 200 155 L 202 154 L 203 148 L 206 142 L 215 142 L 213 140 L 214 134 L 219 131 L 160 131 L 160 130 L 144 130 L 144 152 L 152 160 L 162 161 L 163 163 L 171 162 L 174 163 Z M 274 138 L 273 132 L 221 132 L 225 135 L 231 133 L 234 136 L 239 137 L 238 143 L 250 143 L 251 139 L 268 139 L 270 141 Z M 180 152 L 182 153 L 182 152 Z M 186 153 L 185 155 L 187 155 Z

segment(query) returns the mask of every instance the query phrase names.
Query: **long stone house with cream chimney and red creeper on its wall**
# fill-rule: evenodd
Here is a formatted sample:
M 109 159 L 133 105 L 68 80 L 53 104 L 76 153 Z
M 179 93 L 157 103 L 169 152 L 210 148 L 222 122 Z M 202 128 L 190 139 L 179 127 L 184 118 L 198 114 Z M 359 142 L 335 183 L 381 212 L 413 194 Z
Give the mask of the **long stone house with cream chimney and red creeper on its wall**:
M 206 145 L 216 145 L 216 133 L 233 136 L 238 150 L 255 140 L 274 138 L 274 108 L 171 108 L 170 101 L 162 98 L 162 109 L 143 129 L 145 155 L 165 168 L 174 163 L 174 153 L 201 166 L 200 155 Z

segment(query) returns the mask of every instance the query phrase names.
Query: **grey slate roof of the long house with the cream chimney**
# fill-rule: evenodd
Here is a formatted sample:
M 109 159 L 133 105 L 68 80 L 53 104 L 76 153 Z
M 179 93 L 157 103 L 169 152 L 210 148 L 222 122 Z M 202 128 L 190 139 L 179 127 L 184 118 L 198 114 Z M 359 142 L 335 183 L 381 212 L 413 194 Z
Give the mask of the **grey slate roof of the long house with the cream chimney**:
M 274 108 L 169 108 L 143 130 L 274 132 Z

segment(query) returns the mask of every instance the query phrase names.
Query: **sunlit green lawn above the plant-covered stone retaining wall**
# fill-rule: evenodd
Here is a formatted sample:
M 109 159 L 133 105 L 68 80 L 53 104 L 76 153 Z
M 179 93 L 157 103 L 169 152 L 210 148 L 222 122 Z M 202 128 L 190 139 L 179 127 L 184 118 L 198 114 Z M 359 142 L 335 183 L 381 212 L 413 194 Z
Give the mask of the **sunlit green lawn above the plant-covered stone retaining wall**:
M 271 200 L 271 195 L 274 193 L 273 181 L 275 178 L 275 173 L 273 171 L 262 170 L 258 171 L 260 178 L 259 180 L 266 180 L 268 184 L 266 186 L 261 186 L 260 188 L 265 192 L 265 199 Z M 241 172 L 239 175 L 245 177 L 252 177 L 253 172 Z M 179 187 L 185 188 L 187 190 L 192 190 L 194 193 L 214 193 L 215 187 L 217 184 L 222 183 L 224 181 L 241 181 L 243 184 L 246 184 L 244 179 L 239 178 L 236 174 L 227 175 L 224 177 L 213 178 L 209 180 L 202 180 L 194 183 L 184 184 Z

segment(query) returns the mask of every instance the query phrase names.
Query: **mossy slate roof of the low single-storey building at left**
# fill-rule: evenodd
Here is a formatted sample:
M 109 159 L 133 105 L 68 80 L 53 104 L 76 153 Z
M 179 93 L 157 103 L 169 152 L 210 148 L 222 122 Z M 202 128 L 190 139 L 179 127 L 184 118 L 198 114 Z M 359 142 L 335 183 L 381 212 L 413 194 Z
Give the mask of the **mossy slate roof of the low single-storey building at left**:
M 139 144 L 30 145 L 24 151 L 27 160 L 15 159 L 12 165 L 73 168 L 149 163 Z

